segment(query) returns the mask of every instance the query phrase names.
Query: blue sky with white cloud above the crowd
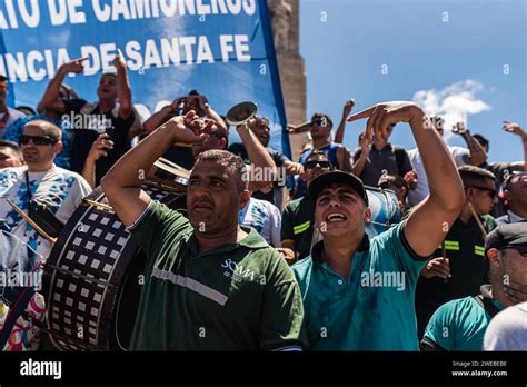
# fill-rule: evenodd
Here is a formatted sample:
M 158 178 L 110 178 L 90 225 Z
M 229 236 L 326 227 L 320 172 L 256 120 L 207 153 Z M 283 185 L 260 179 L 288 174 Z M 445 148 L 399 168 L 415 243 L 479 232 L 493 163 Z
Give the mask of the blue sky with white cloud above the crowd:
M 527 131 L 525 0 L 300 0 L 300 53 L 308 117 L 326 111 L 338 122 L 350 98 L 354 111 L 415 100 L 447 125 L 466 117 L 490 140 L 490 161 L 523 160 L 519 138 L 501 122 Z M 347 147 L 365 125 L 347 125 Z M 391 142 L 415 147 L 407 125 Z

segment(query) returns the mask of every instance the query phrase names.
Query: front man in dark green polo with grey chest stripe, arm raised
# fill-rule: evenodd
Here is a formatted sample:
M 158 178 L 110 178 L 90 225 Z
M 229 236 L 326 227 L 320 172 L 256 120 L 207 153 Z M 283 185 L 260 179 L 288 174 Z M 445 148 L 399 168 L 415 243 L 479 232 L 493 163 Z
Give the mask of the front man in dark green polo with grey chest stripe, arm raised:
M 302 304 L 280 255 L 238 225 L 249 200 L 243 161 L 199 155 L 187 191 L 189 220 L 152 200 L 141 170 L 175 142 L 207 139 L 193 111 L 176 117 L 126 153 L 102 180 L 113 209 L 147 255 L 132 350 L 299 350 Z

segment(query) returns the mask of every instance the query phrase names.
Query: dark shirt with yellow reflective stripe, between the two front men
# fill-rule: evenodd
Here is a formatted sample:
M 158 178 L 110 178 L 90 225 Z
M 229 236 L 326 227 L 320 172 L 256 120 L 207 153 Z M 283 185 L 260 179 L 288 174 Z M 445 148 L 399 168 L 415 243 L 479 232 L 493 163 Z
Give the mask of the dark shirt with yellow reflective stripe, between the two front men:
M 295 242 L 298 259 L 311 252 L 315 204 L 309 196 L 289 201 L 281 214 L 281 241 Z

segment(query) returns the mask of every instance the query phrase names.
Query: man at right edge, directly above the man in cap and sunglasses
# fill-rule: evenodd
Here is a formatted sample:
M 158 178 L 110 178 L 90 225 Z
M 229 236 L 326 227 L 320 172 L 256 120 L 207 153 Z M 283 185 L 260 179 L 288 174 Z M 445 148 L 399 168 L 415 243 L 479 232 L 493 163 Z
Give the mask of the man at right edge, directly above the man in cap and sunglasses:
M 504 201 L 507 214 L 497 218 L 498 224 L 527 221 L 527 172 L 511 172 L 504 181 Z

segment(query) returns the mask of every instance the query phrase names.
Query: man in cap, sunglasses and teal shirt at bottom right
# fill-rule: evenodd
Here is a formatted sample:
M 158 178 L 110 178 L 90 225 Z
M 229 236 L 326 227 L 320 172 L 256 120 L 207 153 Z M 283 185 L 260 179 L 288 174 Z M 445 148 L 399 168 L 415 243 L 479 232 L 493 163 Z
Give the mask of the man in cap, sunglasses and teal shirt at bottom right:
M 490 319 L 527 300 L 527 224 L 499 225 L 485 239 L 491 285 L 436 310 L 421 340 L 422 350 L 481 350 Z

